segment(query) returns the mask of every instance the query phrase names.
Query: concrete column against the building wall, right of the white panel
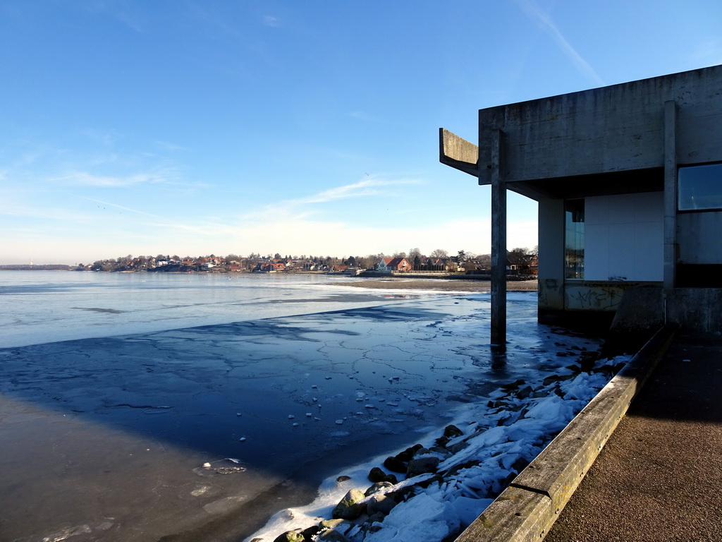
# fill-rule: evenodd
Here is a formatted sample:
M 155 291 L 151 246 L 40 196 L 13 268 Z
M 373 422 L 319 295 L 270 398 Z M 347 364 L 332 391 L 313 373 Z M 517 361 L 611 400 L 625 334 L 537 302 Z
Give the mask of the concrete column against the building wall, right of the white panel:
M 674 289 L 677 266 L 677 104 L 664 103 L 664 291 Z

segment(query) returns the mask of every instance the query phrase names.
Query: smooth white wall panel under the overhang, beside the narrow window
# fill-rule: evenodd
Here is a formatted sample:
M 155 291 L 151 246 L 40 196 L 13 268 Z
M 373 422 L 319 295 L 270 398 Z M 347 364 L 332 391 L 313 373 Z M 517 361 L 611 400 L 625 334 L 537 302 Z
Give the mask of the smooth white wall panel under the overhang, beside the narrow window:
M 584 200 L 585 280 L 664 278 L 663 196 L 647 192 Z

